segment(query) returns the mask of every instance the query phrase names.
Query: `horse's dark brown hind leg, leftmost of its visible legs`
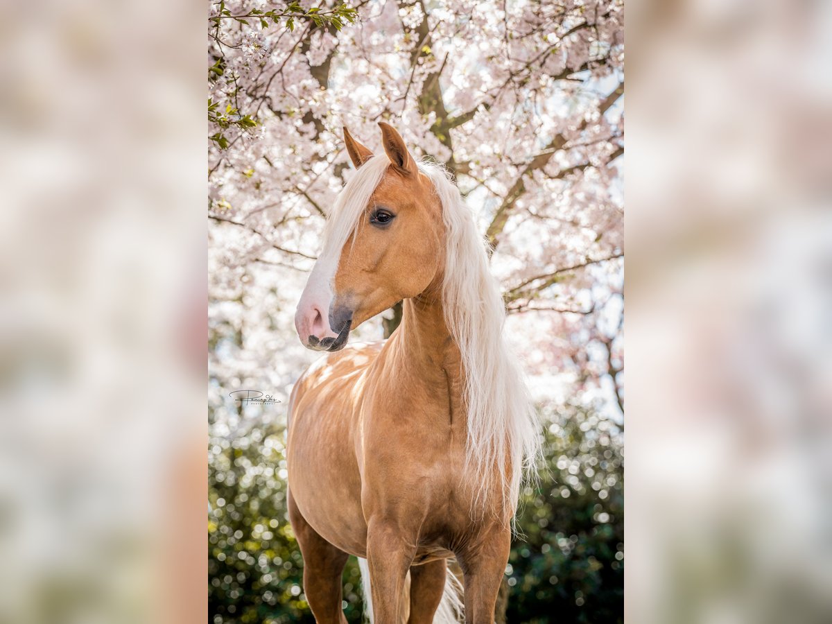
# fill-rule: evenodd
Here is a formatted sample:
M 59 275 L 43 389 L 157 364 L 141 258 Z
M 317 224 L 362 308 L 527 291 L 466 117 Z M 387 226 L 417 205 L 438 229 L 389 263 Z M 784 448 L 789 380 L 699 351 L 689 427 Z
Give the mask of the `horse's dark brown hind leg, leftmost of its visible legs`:
M 300 510 L 288 498 L 289 521 L 304 557 L 304 593 L 310 603 L 315 622 L 319 624 L 347 624 L 341 605 L 343 587 L 341 574 L 347 562 L 346 552 L 339 550 L 320 537 L 310 527 Z

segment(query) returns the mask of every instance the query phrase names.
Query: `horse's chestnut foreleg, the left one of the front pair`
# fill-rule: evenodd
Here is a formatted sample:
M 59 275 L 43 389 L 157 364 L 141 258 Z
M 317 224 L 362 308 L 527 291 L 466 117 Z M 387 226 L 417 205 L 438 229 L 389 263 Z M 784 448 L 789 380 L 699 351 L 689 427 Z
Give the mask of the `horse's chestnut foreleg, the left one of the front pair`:
M 405 540 L 395 527 L 369 522 L 367 562 L 374 624 L 404 622 L 404 582 L 415 552 L 415 544 Z

